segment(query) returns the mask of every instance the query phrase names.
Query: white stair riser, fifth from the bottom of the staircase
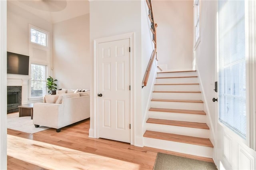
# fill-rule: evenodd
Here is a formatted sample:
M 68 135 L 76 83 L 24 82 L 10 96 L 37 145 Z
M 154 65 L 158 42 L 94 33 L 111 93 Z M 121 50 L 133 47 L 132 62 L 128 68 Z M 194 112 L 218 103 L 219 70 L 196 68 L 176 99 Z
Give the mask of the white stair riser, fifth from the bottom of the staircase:
M 201 100 L 201 93 L 153 93 L 153 99 Z

